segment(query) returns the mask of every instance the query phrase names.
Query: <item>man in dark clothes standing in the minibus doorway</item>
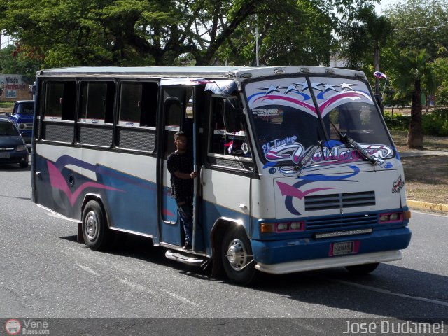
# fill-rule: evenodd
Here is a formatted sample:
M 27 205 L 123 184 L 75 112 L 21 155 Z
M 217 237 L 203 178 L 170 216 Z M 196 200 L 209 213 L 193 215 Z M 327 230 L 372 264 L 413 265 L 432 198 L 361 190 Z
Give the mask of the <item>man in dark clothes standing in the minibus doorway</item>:
M 183 132 L 174 134 L 176 151 L 169 155 L 167 167 L 171 173 L 172 195 L 176 199 L 181 216 L 181 225 L 185 231 L 184 249 L 190 250 L 193 241 L 193 180 L 197 172 L 193 169 L 193 155 L 187 151 L 187 137 Z

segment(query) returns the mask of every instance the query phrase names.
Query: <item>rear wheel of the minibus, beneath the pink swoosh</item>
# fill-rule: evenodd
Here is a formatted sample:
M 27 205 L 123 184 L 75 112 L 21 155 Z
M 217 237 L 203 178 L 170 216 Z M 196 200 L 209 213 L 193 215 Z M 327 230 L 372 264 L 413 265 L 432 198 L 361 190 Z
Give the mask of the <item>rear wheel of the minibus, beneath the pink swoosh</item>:
M 111 230 L 107 225 L 104 211 L 98 202 L 89 201 L 85 204 L 81 226 L 84 242 L 89 248 L 99 251 L 109 246 Z

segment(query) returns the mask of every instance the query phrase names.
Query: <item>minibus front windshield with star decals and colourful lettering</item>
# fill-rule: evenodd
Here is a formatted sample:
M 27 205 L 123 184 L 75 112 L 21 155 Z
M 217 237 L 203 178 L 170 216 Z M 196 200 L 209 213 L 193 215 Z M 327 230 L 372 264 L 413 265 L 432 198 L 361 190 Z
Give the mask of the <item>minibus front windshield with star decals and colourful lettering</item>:
M 245 91 L 265 162 L 297 164 L 316 144 L 333 153 L 346 147 L 342 135 L 380 158 L 393 155 L 379 111 L 360 80 L 282 78 L 248 83 Z

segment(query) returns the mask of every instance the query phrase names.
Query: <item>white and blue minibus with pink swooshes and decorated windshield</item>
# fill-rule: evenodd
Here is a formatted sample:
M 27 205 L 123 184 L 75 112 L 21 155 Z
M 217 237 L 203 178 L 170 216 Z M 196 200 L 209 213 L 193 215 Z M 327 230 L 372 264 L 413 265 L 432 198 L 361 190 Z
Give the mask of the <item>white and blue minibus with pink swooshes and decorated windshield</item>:
M 363 72 L 320 66 L 41 70 L 32 197 L 94 250 L 118 232 L 150 237 L 235 283 L 369 273 L 411 238 L 400 155 L 373 97 Z M 190 251 L 167 169 L 179 131 L 198 172 Z

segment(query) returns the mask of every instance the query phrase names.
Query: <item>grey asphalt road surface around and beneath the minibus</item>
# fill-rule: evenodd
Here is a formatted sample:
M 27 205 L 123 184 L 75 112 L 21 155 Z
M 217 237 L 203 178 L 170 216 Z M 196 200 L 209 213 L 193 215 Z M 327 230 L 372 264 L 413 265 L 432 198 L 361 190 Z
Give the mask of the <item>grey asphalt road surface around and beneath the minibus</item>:
M 414 211 L 413 237 L 404 258 L 380 265 L 369 276 L 353 277 L 342 268 L 285 276 L 261 274 L 258 284 L 246 288 L 167 260 L 165 250 L 153 247 L 148 239 L 128 237 L 125 244 L 107 253 L 91 251 L 76 242 L 75 223 L 37 207 L 30 195 L 29 169 L 0 165 L 0 318 L 188 318 L 158 323 L 90 320 L 109 323 L 118 332 L 108 335 L 130 335 L 126 328 L 117 327 L 126 323 L 136 328 L 133 335 L 148 335 L 145 323 L 151 323 L 151 330 L 162 328 L 165 335 L 190 335 L 186 330 L 209 335 L 234 329 L 245 330 L 246 335 L 271 335 L 259 332 L 267 330 L 263 329 L 268 328 L 266 321 L 269 328 L 276 325 L 276 331 L 286 334 L 307 330 L 302 335 L 323 335 L 332 330 L 328 335 L 342 335 L 347 319 L 448 318 L 446 216 Z M 191 320 L 197 318 L 204 320 Z M 74 321 L 78 320 L 59 323 Z M 186 323 L 202 326 L 188 329 Z M 66 328 L 78 330 L 70 335 L 99 335 L 88 331 L 97 327 L 87 325 Z M 0 335 L 2 331 L 0 325 Z M 50 335 L 69 334 L 52 330 Z

